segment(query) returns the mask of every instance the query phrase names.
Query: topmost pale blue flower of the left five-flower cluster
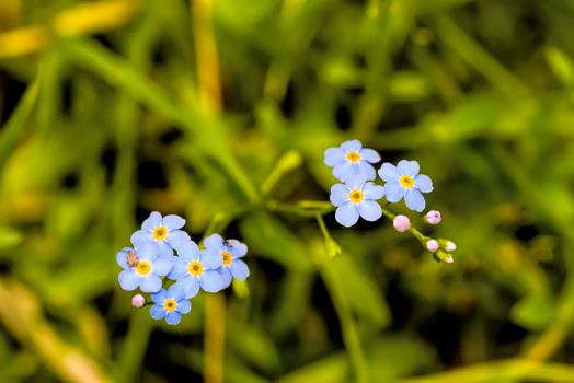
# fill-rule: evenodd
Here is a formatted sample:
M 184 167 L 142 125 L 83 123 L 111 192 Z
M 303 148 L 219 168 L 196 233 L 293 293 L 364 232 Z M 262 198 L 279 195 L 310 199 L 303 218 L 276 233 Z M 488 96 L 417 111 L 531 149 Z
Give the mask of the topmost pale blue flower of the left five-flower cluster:
M 153 211 L 141 224 L 141 230 L 131 234 L 131 243 L 139 246 L 146 242 L 154 243 L 159 247 L 160 255 L 173 255 L 174 249 L 179 249 L 190 242 L 190 235 L 179 230 L 183 228 L 185 220 L 179 216 L 165 216 Z

